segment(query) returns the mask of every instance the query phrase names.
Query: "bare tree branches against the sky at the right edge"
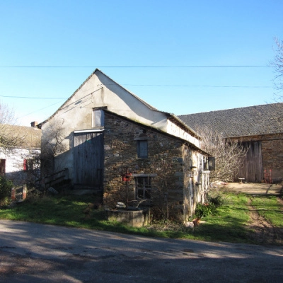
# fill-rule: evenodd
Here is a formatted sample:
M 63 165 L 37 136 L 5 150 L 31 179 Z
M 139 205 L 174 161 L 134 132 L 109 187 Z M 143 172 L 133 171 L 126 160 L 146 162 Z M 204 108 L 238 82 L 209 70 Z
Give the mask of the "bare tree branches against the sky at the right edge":
M 276 50 L 275 59 L 271 62 L 271 66 L 275 69 L 275 89 L 277 93 L 277 100 L 283 100 L 283 41 L 275 37 Z

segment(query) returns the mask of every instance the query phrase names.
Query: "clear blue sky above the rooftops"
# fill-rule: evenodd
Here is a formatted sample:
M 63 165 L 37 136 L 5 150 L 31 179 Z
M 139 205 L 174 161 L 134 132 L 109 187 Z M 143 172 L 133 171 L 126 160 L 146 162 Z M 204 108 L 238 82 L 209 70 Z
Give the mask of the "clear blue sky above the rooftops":
M 282 12 L 282 0 L 0 0 L 0 101 L 21 125 L 42 122 L 98 67 L 175 115 L 272 103 Z

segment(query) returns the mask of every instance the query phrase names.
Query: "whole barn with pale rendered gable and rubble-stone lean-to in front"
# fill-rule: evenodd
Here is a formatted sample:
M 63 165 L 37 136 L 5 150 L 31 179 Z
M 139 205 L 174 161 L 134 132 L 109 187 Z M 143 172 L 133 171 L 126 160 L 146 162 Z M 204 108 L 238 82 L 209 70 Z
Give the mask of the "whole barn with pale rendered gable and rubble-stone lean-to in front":
M 144 205 L 156 218 L 187 221 L 204 201 L 200 137 L 98 69 L 39 127 L 42 151 L 59 149 L 52 171 L 68 168 L 73 190 L 103 192 L 110 209 Z

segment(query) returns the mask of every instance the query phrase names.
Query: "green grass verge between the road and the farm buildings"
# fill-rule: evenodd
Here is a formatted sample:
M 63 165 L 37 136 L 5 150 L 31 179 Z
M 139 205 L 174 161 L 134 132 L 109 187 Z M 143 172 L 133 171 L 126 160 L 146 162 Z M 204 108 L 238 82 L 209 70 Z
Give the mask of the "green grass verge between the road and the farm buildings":
M 171 222 L 134 228 L 106 220 L 103 210 L 99 209 L 93 210 L 91 217 L 86 218 L 83 209 L 94 201 L 91 196 L 30 197 L 14 207 L 0 208 L 0 219 L 33 221 L 144 236 L 253 243 L 247 226 L 250 197 L 244 194 L 226 193 L 224 198 L 225 204 L 217 208 L 214 215 L 203 218 L 202 221 L 205 222 L 195 230 Z M 272 224 L 283 227 L 282 204 L 277 202 L 276 197 L 253 197 L 252 205 L 266 219 L 272 221 Z

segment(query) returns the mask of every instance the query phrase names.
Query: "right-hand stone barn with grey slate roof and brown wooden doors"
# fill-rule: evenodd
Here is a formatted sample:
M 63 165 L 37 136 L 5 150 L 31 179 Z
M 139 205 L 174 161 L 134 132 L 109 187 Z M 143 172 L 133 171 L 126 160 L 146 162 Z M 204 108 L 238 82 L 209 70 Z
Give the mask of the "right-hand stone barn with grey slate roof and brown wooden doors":
M 249 148 L 236 178 L 248 182 L 279 182 L 283 179 L 283 103 L 255 105 L 179 118 L 192 129 L 207 125 L 226 139 Z

